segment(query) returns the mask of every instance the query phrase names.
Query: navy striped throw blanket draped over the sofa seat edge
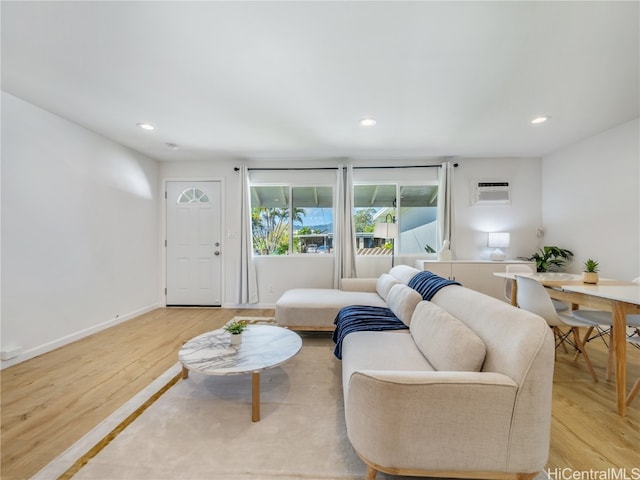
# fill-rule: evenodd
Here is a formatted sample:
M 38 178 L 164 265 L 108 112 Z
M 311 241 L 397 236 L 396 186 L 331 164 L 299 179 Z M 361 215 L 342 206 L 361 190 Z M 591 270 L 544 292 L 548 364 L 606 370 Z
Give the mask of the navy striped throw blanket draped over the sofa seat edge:
M 342 340 L 349 333 L 409 328 L 388 308 L 361 305 L 342 308 L 333 323 L 336 324 L 336 329 L 333 331 L 333 341 L 336 342 L 336 348 L 333 354 L 341 360 Z

